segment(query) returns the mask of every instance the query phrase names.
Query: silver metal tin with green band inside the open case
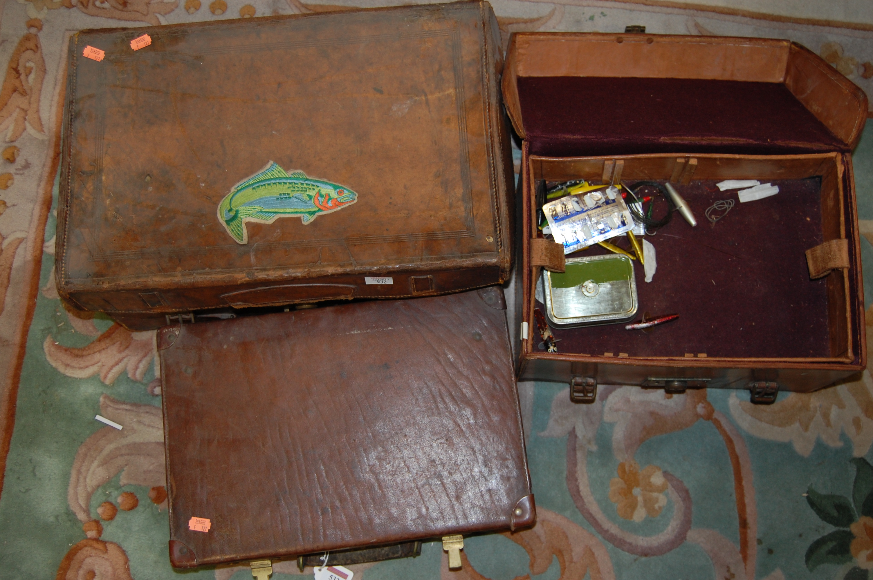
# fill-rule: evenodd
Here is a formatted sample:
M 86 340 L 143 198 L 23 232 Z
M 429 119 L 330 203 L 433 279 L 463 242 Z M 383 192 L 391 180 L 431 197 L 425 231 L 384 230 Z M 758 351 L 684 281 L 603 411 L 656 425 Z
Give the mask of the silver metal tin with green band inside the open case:
M 636 315 L 634 263 L 628 256 L 568 258 L 563 274 L 543 272 L 549 322 L 557 328 L 612 324 Z

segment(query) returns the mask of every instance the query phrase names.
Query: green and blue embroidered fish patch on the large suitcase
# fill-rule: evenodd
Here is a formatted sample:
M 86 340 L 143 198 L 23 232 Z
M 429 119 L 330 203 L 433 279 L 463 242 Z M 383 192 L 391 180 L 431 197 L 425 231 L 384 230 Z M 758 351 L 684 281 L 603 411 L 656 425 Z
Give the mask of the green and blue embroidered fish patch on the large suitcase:
M 355 201 L 358 194 L 349 188 L 306 177 L 302 171 L 287 174 L 270 161 L 230 189 L 218 204 L 218 221 L 237 243 L 248 243 L 245 222 L 272 223 L 279 217 L 299 215 L 306 224 Z

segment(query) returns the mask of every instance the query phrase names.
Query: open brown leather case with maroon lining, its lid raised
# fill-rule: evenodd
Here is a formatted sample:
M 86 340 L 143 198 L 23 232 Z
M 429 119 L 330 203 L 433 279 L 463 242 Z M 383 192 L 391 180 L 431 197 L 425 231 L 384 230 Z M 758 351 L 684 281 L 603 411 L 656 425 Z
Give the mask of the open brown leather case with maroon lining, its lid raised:
M 867 99 L 833 67 L 784 40 L 518 33 L 503 91 L 525 140 L 519 379 L 568 381 L 578 401 L 594 400 L 600 383 L 744 388 L 772 402 L 779 389 L 812 391 L 863 370 L 850 152 Z M 635 274 L 636 319 L 650 310 L 677 313 L 675 322 L 647 332 L 553 327 L 557 351 L 544 348 L 536 285 L 565 256 L 538 228 L 538 189 L 573 179 L 670 181 L 684 196 L 697 227 L 676 214 L 646 236 L 656 275 L 645 283 L 638 265 Z M 770 181 L 780 193 L 737 203 L 711 225 L 705 210 L 737 199 L 715 188 L 729 179 Z M 830 273 L 813 279 L 806 251 L 834 247 Z

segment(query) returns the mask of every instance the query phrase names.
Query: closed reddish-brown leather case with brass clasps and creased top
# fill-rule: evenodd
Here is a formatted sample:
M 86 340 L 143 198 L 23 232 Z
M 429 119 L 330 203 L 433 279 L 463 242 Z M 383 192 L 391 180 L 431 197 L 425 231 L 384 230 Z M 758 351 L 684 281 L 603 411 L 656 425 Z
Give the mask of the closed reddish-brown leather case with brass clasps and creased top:
M 340 563 L 534 522 L 499 287 L 168 326 L 157 341 L 176 567 Z

